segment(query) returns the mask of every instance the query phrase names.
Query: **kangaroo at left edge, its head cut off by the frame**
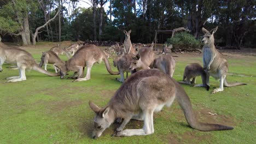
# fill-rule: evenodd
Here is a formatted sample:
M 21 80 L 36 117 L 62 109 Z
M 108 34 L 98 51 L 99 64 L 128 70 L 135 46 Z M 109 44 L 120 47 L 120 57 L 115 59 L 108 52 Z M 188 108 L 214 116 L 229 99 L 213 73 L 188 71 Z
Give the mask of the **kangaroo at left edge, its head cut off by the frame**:
M 40 73 L 49 76 L 59 76 L 59 74 L 53 74 L 40 68 L 30 53 L 25 50 L 16 47 L 10 47 L 3 44 L 0 41 L 0 72 L 2 72 L 2 65 L 4 62 L 17 65 L 20 71 L 20 76 L 7 77 L 7 82 L 16 82 L 26 80 L 25 70 L 36 70 Z

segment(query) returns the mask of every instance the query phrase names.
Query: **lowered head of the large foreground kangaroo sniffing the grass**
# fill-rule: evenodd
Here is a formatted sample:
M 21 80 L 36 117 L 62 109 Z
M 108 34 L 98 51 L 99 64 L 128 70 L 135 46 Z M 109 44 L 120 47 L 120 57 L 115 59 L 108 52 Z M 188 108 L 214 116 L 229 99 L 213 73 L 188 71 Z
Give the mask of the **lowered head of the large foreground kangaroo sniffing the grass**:
M 92 131 L 92 138 L 97 139 L 101 136 L 103 131 L 114 122 L 114 117 L 109 115 L 109 106 L 100 108 L 96 104 L 92 103 L 92 101 L 89 101 L 89 106 L 91 107 L 92 111 L 96 113 L 96 116 L 94 117 L 94 130 Z

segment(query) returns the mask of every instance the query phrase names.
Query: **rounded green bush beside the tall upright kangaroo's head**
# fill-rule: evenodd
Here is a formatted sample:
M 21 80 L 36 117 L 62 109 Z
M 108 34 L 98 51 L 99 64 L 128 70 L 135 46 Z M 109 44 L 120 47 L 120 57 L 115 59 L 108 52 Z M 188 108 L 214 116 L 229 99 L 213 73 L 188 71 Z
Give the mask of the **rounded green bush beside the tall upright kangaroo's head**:
M 174 49 L 200 49 L 201 43 L 199 40 L 196 40 L 193 35 L 187 32 L 181 32 L 174 34 L 173 38 L 167 39 L 168 44 L 172 44 Z

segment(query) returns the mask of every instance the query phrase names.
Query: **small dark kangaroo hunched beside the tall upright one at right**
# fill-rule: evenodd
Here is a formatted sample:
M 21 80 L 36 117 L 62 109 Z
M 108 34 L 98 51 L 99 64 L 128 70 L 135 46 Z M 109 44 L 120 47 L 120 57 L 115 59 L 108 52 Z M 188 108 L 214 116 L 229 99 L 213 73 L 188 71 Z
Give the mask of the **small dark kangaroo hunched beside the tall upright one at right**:
M 202 85 L 195 85 L 194 87 L 206 87 L 209 91 L 209 86 L 206 84 L 206 73 L 205 70 L 199 63 L 191 63 L 185 67 L 183 80 L 179 83 L 190 85 L 190 83 L 196 83 L 196 76 L 201 76 Z M 192 79 L 192 81 L 190 81 Z

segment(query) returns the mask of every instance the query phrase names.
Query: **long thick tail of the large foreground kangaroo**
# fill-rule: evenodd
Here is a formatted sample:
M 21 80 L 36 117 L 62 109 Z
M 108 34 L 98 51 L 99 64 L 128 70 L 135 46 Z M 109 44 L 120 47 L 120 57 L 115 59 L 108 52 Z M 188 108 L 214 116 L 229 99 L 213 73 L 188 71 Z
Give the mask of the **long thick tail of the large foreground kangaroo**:
M 213 130 L 231 130 L 232 127 L 222 125 L 222 124 L 211 124 L 211 123 L 201 123 L 197 121 L 197 118 L 194 114 L 190 99 L 185 93 L 184 89 L 176 83 L 176 97 L 179 105 L 182 107 L 185 118 L 191 128 L 201 130 L 201 131 L 213 131 Z

